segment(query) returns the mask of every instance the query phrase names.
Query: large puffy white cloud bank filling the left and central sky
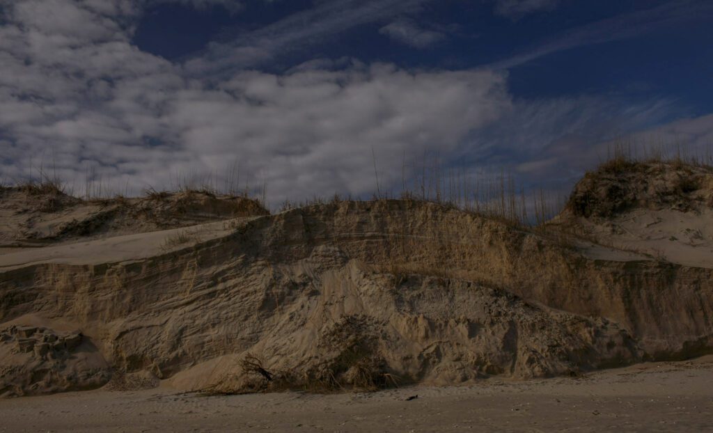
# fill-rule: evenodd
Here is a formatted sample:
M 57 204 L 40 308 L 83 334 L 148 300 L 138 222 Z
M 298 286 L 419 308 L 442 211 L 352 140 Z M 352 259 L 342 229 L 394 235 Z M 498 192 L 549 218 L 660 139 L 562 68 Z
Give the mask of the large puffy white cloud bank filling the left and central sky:
M 42 5 L 64 11 L 61 25 L 34 24 L 28 8 Z M 139 51 L 118 21 L 83 6 L 30 1 L 9 9 L 0 29 L 1 169 L 10 178 L 43 160 L 66 178 L 88 164 L 138 189 L 239 161 L 272 200 L 369 193 L 371 148 L 388 182 L 404 150 L 453 149 L 510 105 L 502 73 L 348 61 L 209 84 Z M 87 19 L 101 25 L 73 29 Z

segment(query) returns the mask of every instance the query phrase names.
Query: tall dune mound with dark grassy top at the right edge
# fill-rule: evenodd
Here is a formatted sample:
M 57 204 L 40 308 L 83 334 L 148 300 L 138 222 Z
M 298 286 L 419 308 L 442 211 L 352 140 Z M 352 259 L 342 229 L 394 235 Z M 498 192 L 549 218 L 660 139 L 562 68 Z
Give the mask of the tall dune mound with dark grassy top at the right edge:
M 713 168 L 610 161 L 580 180 L 555 223 L 602 245 L 713 268 Z

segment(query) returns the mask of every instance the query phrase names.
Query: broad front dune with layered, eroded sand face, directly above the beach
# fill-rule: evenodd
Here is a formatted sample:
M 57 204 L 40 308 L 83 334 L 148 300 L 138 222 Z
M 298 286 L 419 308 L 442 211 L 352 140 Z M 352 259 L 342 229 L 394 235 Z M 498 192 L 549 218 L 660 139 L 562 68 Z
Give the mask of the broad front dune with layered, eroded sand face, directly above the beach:
M 1 255 L 0 327 L 76 328 L 115 379 L 218 391 L 566 375 L 713 347 L 710 267 L 562 230 L 379 200 L 205 233 Z

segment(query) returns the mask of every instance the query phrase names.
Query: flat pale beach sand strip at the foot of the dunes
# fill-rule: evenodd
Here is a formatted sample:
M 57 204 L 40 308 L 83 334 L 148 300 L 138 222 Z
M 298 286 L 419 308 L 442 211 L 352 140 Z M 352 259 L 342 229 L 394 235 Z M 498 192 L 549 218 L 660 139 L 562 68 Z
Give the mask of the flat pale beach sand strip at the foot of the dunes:
M 0 432 L 706 432 L 713 358 L 371 394 L 99 389 L 0 401 L 0 419 Z

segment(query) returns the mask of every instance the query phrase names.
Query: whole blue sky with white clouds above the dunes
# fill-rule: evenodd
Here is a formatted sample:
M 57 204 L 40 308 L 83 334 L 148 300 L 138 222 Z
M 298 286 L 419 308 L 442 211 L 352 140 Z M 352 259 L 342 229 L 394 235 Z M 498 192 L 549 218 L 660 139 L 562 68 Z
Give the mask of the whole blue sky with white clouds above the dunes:
M 0 0 L 0 178 L 566 192 L 612 143 L 707 151 L 712 46 L 707 0 Z

